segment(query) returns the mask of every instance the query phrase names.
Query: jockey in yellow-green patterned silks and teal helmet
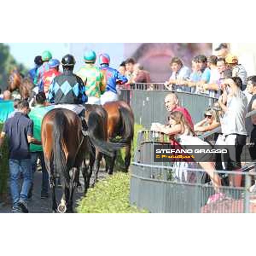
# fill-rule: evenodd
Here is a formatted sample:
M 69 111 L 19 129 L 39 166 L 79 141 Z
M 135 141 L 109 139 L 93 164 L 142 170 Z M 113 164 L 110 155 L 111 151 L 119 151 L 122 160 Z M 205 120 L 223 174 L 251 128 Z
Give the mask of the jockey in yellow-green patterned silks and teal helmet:
M 100 105 L 100 96 L 105 92 L 105 81 L 101 70 L 95 67 L 96 53 L 92 50 L 84 53 L 85 66 L 81 67 L 77 75 L 85 84 L 88 104 Z

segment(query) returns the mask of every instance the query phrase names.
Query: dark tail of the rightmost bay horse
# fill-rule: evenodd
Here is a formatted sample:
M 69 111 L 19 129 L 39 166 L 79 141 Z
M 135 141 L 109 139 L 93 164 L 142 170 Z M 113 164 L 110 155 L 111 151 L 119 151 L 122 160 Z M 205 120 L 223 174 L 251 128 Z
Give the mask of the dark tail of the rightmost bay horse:
M 119 108 L 122 119 L 122 139 L 118 143 L 130 143 L 134 137 L 134 118 L 127 108 Z

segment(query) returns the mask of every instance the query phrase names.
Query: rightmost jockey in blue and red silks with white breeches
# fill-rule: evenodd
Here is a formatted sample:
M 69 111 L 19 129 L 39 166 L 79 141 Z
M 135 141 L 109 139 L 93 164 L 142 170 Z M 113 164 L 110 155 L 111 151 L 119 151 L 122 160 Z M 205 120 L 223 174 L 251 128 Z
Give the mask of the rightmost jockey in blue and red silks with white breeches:
M 128 79 L 122 76 L 119 71 L 109 67 L 110 57 L 107 53 L 99 55 L 99 64 L 101 66 L 102 73 L 105 76 L 107 82 L 107 88 L 105 93 L 101 96 L 101 104 L 104 105 L 106 102 L 113 102 L 118 100 L 116 83 L 125 84 Z

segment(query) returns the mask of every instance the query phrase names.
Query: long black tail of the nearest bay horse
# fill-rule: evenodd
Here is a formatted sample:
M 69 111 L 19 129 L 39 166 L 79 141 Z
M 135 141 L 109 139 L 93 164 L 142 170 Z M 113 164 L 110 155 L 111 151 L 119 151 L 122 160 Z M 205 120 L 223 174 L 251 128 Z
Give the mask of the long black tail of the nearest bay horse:
M 53 163 L 54 171 L 69 183 L 69 173 L 67 170 L 66 157 L 62 148 L 64 143 L 64 129 L 67 126 L 67 119 L 63 111 L 56 111 L 53 121 Z

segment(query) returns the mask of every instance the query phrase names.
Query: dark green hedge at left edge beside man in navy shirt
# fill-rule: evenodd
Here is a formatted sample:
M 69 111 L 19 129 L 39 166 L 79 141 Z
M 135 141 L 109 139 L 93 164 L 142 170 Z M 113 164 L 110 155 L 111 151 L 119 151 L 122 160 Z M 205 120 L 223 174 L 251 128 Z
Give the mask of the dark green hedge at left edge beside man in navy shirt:
M 0 132 L 2 131 L 3 123 L 0 123 Z M 0 148 L 3 158 L 0 160 L 0 201 L 4 200 L 7 195 L 7 181 L 9 176 L 9 166 L 8 166 L 8 145 L 7 141 L 3 143 Z

